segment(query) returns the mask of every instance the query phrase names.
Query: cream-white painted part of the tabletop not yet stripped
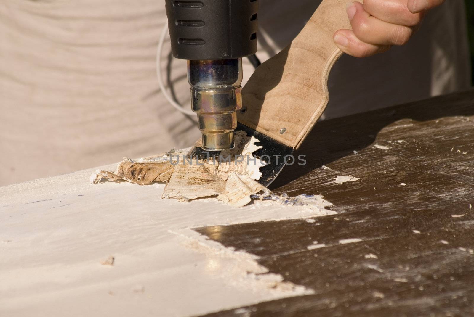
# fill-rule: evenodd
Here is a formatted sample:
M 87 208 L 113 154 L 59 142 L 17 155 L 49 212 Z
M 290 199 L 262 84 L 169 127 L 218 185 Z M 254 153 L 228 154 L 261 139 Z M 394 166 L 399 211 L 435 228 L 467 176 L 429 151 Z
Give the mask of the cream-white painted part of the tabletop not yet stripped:
M 332 211 L 177 202 L 162 184 L 91 184 L 95 170 L 0 188 L 0 316 L 195 316 L 310 291 L 271 288 L 280 276 L 247 274 L 266 272 L 254 255 L 189 228 Z

